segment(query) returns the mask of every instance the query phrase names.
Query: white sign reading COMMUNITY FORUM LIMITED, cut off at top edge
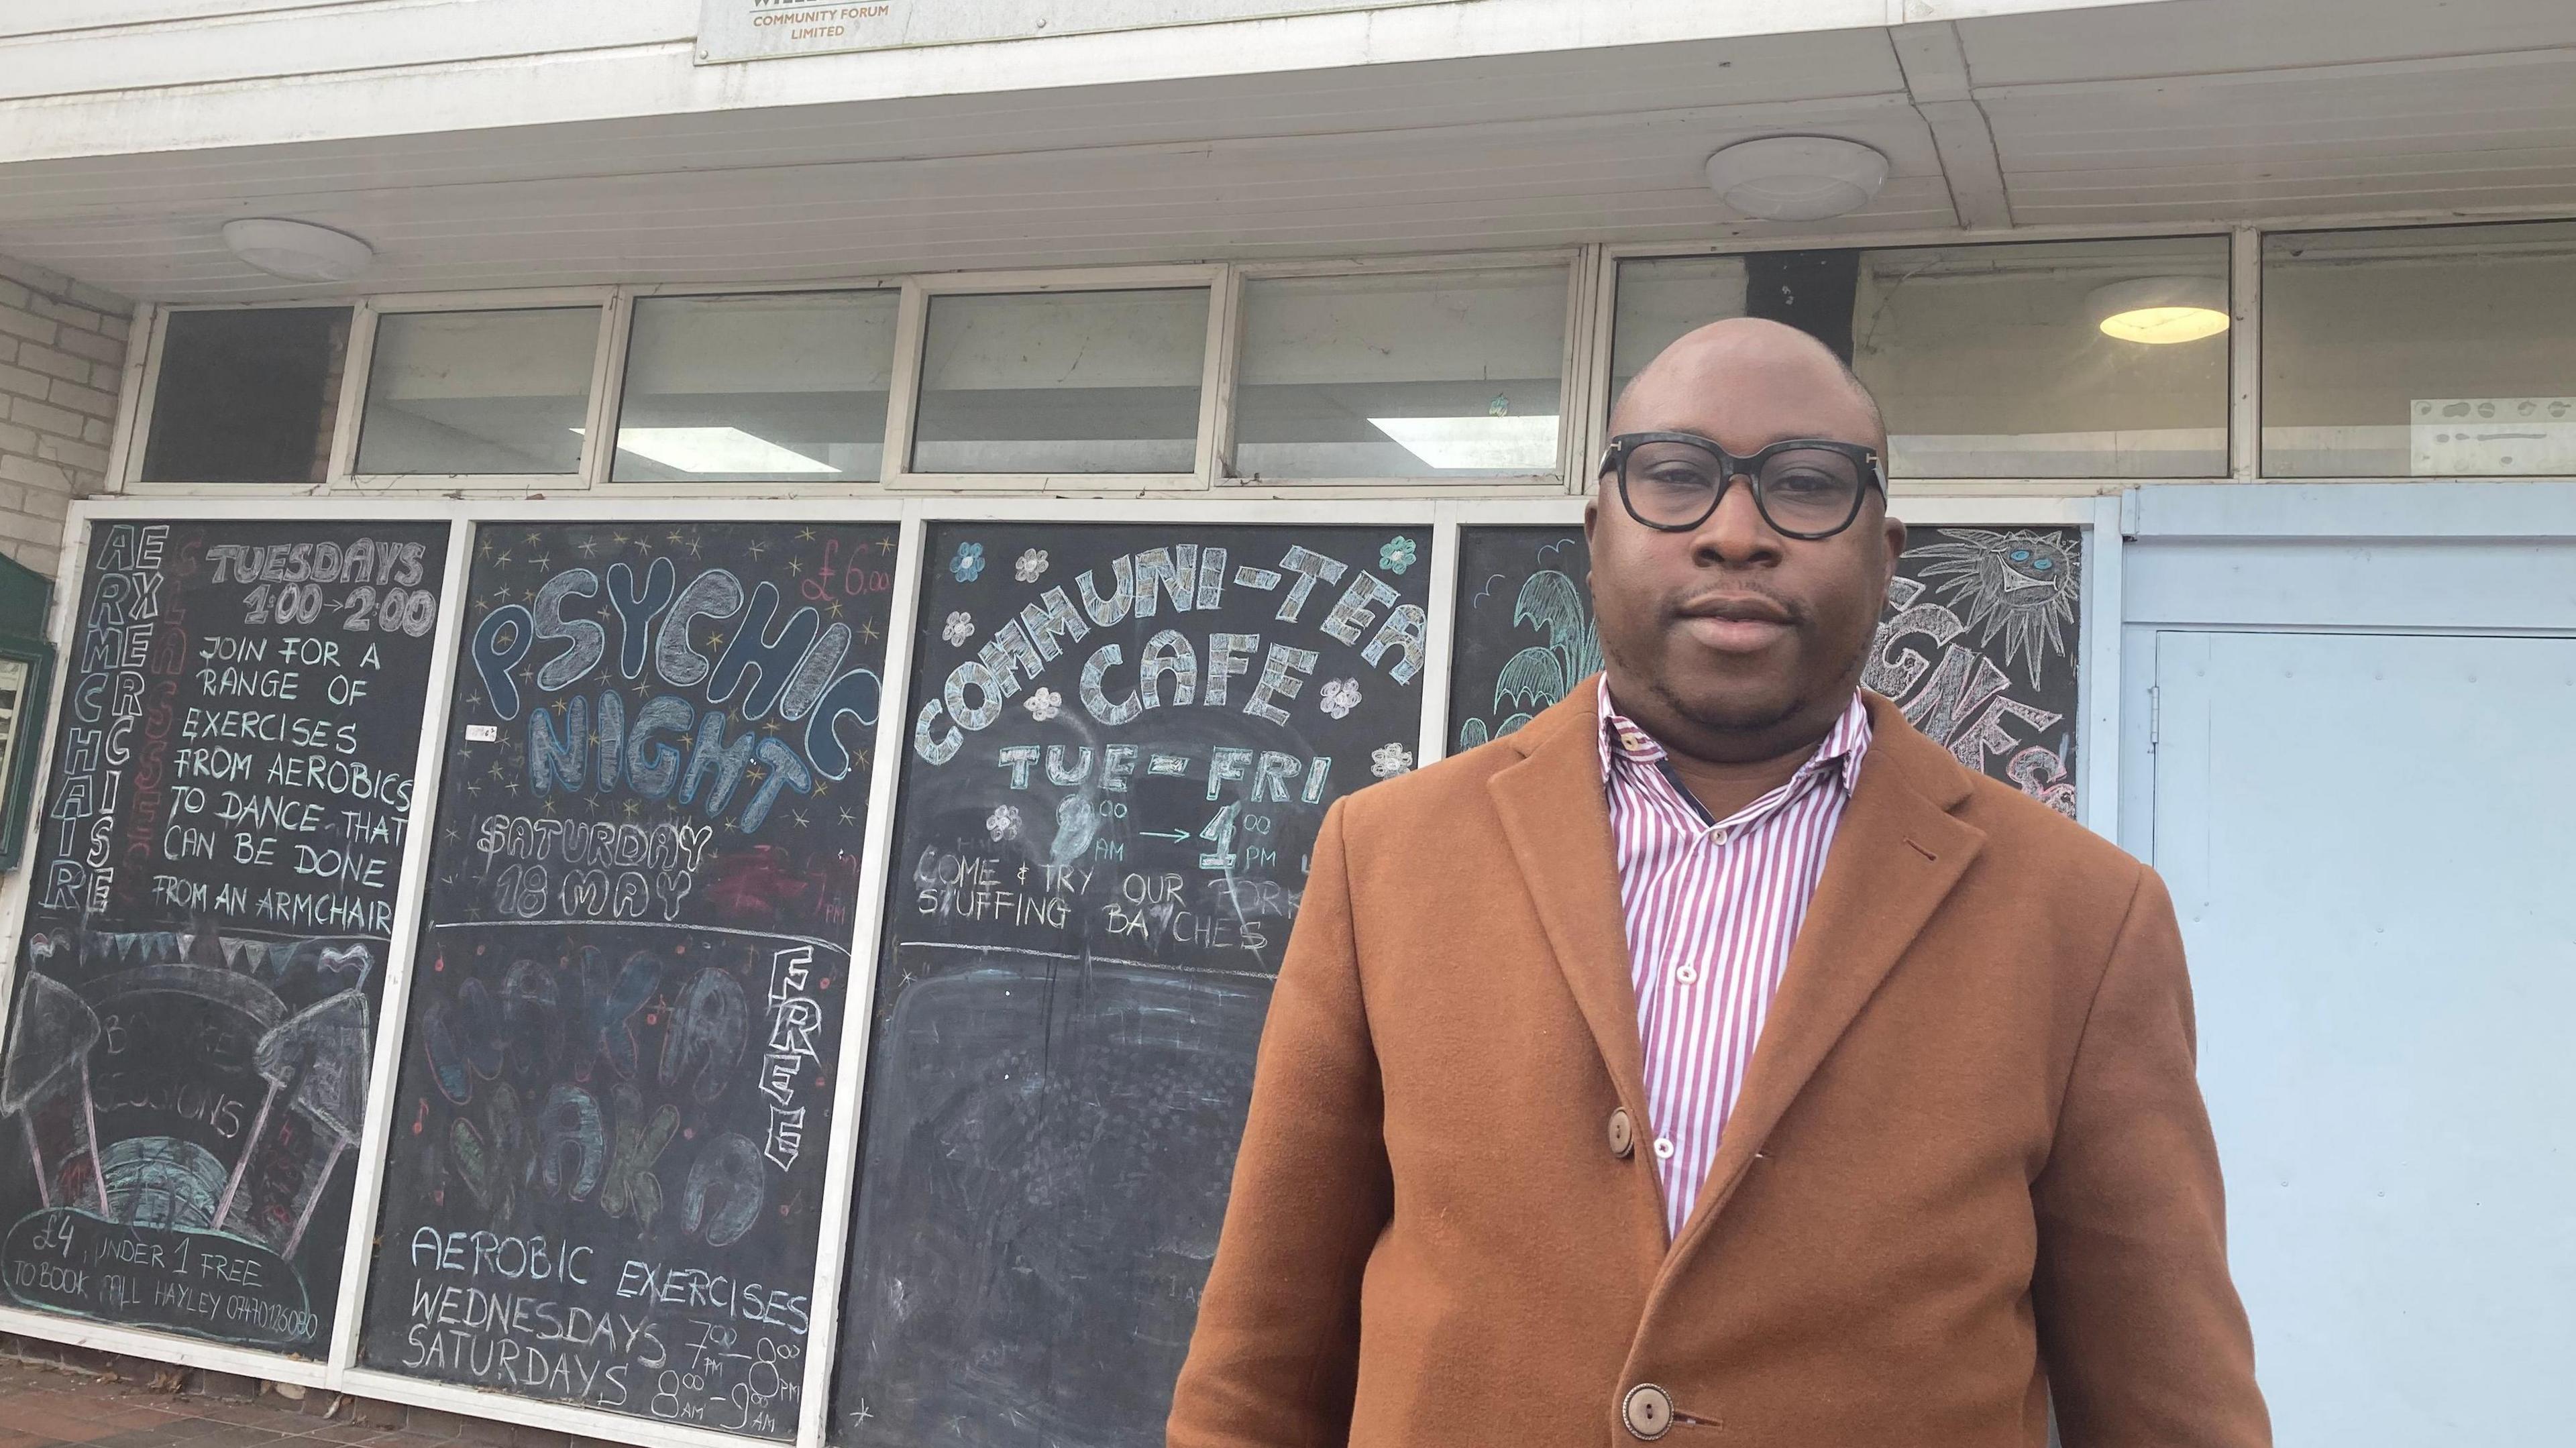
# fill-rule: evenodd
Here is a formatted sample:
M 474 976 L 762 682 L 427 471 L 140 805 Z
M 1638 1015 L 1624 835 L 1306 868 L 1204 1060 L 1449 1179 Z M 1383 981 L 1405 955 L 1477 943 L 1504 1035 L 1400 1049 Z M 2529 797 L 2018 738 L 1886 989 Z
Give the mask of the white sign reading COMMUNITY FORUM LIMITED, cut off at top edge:
M 1440 0 L 698 0 L 698 64 L 1151 31 Z

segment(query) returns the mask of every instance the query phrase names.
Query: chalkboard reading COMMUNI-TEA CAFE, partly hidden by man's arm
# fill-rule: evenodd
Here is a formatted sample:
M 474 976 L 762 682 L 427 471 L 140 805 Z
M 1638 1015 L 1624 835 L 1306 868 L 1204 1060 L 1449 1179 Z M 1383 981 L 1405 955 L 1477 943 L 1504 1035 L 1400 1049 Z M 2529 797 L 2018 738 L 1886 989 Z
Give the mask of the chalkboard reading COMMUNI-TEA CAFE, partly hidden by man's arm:
M 1414 763 L 1427 538 L 930 528 L 840 1443 L 1162 1438 L 1316 827 Z

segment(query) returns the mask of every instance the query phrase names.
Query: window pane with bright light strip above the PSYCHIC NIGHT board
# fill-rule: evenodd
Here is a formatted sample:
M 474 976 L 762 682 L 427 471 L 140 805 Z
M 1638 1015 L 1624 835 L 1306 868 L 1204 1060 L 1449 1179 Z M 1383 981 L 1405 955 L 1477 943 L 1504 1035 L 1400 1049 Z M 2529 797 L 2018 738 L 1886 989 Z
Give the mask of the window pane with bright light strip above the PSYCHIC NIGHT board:
M 647 296 L 616 482 L 876 482 L 894 291 Z

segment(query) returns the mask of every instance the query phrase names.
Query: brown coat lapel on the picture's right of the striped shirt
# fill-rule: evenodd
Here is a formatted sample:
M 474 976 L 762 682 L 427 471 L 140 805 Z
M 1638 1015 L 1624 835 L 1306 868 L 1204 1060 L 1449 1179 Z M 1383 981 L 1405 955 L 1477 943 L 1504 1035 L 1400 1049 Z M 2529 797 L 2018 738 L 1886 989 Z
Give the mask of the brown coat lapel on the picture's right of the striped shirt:
M 1708 1237 L 1754 1152 L 1986 843 L 1950 814 L 1971 788 L 1958 760 L 1886 698 L 1868 706 L 1870 755 L 1672 1262 Z

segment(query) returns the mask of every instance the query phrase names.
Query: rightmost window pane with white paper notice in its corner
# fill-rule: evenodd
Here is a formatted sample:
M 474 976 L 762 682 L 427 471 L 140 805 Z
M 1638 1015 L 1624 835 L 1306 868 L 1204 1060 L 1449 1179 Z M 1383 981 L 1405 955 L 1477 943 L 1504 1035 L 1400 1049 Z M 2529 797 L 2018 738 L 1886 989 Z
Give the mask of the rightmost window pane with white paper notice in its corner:
M 2571 317 L 2576 224 L 2264 237 L 2264 472 L 2576 474 Z

